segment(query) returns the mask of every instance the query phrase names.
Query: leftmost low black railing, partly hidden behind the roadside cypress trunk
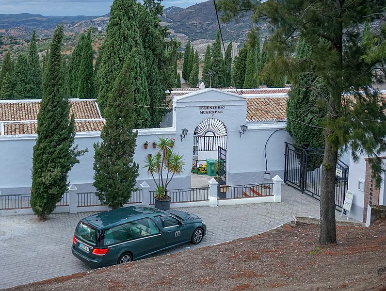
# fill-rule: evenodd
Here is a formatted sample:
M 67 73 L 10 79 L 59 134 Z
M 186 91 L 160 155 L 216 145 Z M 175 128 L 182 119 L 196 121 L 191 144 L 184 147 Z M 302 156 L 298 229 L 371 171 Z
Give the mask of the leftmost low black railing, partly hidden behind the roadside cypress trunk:
M 56 206 L 68 206 L 68 192 L 65 192 L 62 199 Z M 31 208 L 31 194 L 10 194 L 0 195 L 0 210 Z

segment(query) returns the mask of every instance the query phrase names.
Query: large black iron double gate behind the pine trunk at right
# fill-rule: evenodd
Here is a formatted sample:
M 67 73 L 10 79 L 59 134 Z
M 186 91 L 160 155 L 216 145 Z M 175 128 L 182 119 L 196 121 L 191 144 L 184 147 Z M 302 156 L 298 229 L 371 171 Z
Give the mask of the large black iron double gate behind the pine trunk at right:
M 286 144 L 284 182 L 314 198 L 320 199 L 323 152 Z M 335 206 L 343 208 L 349 179 L 349 166 L 338 160 L 335 177 Z

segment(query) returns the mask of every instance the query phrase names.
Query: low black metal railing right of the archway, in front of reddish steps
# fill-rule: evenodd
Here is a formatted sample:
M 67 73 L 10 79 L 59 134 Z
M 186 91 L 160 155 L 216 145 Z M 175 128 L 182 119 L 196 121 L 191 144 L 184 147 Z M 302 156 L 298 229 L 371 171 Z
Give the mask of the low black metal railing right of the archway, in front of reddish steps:
M 226 193 L 226 195 L 218 197 L 219 199 L 239 199 L 273 195 L 273 183 L 223 186 L 222 188 L 222 192 Z

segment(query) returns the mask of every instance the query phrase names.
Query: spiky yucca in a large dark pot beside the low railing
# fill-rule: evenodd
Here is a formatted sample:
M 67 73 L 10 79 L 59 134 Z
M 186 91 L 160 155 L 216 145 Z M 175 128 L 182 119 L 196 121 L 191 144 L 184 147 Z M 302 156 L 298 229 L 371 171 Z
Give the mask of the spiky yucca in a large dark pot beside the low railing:
M 161 210 L 170 209 L 171 197 L 167 195 L 167 187 L 175 175 L 182 173 L 185 165 L 183 156 L 173 152 L 171 144 L 172 139 L 160 137 L 158 152 L 155 155 L 148 154 L 143 167 L 156 184 L 155 207 Z

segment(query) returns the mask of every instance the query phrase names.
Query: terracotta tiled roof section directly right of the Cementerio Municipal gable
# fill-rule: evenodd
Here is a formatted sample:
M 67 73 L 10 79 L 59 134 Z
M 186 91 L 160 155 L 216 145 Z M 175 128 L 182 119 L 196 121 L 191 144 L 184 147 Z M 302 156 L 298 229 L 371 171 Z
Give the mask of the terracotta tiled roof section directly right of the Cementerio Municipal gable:
M 248 121 L 287 120 L 288 97 L 256 97 L 247 99 Z

